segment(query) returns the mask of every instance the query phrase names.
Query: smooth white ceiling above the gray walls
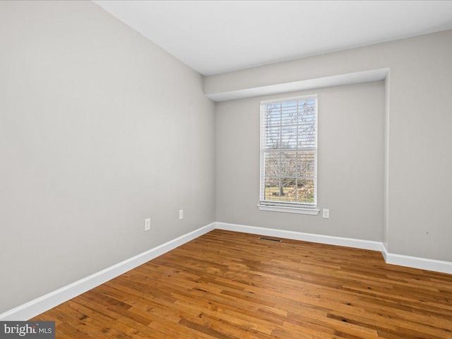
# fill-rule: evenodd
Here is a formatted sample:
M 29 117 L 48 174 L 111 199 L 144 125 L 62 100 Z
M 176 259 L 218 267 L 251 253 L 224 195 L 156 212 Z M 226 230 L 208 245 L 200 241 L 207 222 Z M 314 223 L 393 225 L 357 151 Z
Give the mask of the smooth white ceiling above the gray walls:
M 103 1 L 203 75 L 452 29 L 452 1 Z

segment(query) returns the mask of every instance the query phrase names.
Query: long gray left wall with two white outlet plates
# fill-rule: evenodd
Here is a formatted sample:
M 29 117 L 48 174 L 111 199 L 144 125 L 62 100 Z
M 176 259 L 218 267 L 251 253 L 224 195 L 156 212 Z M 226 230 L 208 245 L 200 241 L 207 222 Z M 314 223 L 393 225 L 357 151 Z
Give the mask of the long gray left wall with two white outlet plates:
M 0 1 L 0 65 L 0 313 L 215 220 L 200 74 L 90 1 Z

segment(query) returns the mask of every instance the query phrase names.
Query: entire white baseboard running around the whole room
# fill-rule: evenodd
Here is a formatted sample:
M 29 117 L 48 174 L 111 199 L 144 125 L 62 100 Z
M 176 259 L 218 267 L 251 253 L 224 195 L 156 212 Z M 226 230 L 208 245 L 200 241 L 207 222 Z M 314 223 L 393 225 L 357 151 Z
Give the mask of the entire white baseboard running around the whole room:
M 97 287 L 98 285 L 106 283 L 108 280 L 112 280 L 113 278 L 116 278 L 117 276 L 126 273 L 128 270 L 136 268 L 142 265 L 143 263 L 150 261 L 153 258 L 156 258 L 157 256 L 161 256 L 162 254 L 165 254 L 167 251 L 171 251 L 172 249 L 175 249 L 176 247 L 181 246 L 186 242 L 196 239 L 197 237 L 201 237 L 201 235 L 206 234 L 207 232 L 210 232 L 215 229 L 266 235 L 268 237 L 280 237 L 285 239 L 302 240 L 304 242 L 316 242 L 320 244 L 347 246 L 353 247 L 355 249 L 369 249 L 372 251 L 381 251 L 381 254 L 383 255 L 383 258 L 385 259 L 386 263 L 452 274 L 452 262 L 432 260 L 427 258 L 417 258 L 415 256 L 403 256 L 400 254 L 391 254 L 388 253 L 386 247 L 383 246 L 381 242 L 373 242 L 370 240 L 360 240 L 342 237 L 331 237 L 328 235 L 310 234 L 285 230 L 275 230 L 264 227 L 228 224 L 225 222 L 213 222 L 210 225 L 198 228 L 198 230 L 194 230 L 193 232 L 184 234 L 181 237 L 178 237 L 169 242 L 166 242 L 165 244 L 145 251 L 142 254 L 138 254 L 137 256 L 133 256 L 132 258 L 129 258 L 125 261 L 121 261 L 121 263 L 117 263 L 114 266 L 105 268 L 105 270 L 101 270 L 100 272 L 94 273 L 93 275 L 78 280 L 75 283 L 61 287 L 59 290 L 50 292 L 49 294 L 34 299 L 31 302 L 27 302 L 26 304 L 20 305 L 19 307 L 6 311 L 5 313 L 0 314 L 0 321 L 8 320 L 26 321 L 34 316 L 37 316 L 38 314 L 42 314 L 44 311 L 52 309 L 53 307 L 56 307 L 59 304 L 68 301 L 69 299 L 72 299 L 73 297 L 81 295 L 82 293 L 87 292 L 88 290 L 91 290 L 94 287 Z

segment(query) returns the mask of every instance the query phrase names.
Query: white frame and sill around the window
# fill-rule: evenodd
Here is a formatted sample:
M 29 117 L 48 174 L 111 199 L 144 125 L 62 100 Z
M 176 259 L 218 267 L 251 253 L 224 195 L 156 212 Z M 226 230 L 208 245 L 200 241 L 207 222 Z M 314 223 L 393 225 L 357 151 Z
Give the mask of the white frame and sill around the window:
M 282 202 L 282 201 L 270 201 L 264 200 L 265 194 L 265 136 L 266 136 L 266 110 L 263 108 L 268 104 L 273 103 L 283 103 L 283 102 L 294 102 L 294 101 L 304 101 L 304 100 L 316 100 L 316 131 L 315 131 L 315 148 L 311 148 L 311 150 L 315 151 L 314 155 L 314 203 L 293 203 L 293 202 Z M 301 97 L 286 97 L 283 99 L 276 100 L 265 100 L 261 101 L 260 105 L 261 114 L 261 167 L 260 167 L 260 185 L 259 185 L 259 201 L 258 204 L 259 210 L 269 210 L 273 212 L 285 212 L 285 213 L 301 213 L 301 214 L 309 214 L 309 215 L 318 215 L 319 209 L 317 209 L 317 157 L 318 157 L 318 125 L 319 125 L 319 97 L 318 95 L 304 95 Z M 303 148 L 299 148 L 303 150 Z

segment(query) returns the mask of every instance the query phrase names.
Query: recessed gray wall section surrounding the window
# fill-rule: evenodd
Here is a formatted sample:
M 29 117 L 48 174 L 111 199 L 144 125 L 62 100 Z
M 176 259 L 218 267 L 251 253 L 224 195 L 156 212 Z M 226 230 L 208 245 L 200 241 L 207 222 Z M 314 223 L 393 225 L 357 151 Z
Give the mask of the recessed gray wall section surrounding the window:
M 318 206 L 330 218 L 258 210 L 259 102 L 309 94 L 319 95 Z M 383 112 L 383 81 L 219 102 L 217 221 L 381 242 Z

